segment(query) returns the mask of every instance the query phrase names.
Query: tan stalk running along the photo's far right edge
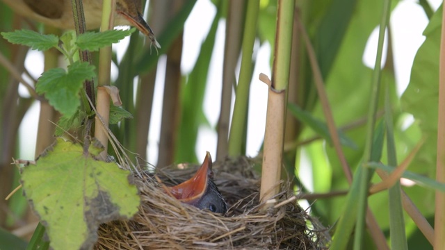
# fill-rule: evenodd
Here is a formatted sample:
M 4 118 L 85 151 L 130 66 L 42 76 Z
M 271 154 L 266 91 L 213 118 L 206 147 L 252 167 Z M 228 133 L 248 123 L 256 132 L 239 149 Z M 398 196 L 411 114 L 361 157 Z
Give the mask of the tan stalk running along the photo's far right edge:
M 436 181 L 445 183 L 445 8 L 442 10 L 439 55 L 439 114 L 437 122 Z M 445 193 L 436 191 L 434 249 L 445 249 Z

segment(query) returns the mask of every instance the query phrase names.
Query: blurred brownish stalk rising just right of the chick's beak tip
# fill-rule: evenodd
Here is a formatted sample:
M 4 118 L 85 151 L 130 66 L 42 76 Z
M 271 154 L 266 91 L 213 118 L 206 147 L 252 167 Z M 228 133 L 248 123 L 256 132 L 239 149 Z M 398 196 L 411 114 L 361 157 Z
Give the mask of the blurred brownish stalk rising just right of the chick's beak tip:
M 230 108 L 232 89 L 235 79 L 235 67 L 241 47 L 241 31 L 243 31 L 245 1 L 228 1 L 227 22 L 225 28 L 225 48 L 223 62 L 223 90 L 221 91 L 220 117 L 218 119 L 218 144 L 216 160 L 227 156 Z

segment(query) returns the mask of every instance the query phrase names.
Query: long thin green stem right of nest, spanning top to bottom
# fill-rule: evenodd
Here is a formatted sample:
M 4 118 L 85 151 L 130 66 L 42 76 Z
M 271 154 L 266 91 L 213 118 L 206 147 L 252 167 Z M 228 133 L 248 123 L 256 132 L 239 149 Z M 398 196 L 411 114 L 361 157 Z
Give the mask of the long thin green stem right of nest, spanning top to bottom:
M 371 152 L 373 151 L 373 131 L 375 127 L 375 115 L 377 113 L 378 97 L 380 92 L 380 76 L 381 76 L 381 61 L 383 53 L 383 42 L 385 40 L 385 30 L 389 22 L 389 15 L 391 13 L 391 0 L 383 1 L 382 19 L 380 20 L 380 30 L 378 37 L 377 55 L 375 56 L 375 67 L 373 71 L 373 77 L 371 81 L 371 100 L 369 104 L 368 112 L 368 126 L 366 131 L 366 142 L 364 148 L 363 162 L 368 163 L 371 160 Z M 375 149 L 374 149 L 375 150 Z M 362 165 L 360 168 L 364 168 Z M 357 222 L 355 224 L 354 235 L 354 249 L 362 249 L 362 240 L 364 238 L 365 217 L 368 201 L 368 188 L 371 178 L 371 170 L 364 168 L 362 174 L 359 176 L 359 199 L 357 202 Z

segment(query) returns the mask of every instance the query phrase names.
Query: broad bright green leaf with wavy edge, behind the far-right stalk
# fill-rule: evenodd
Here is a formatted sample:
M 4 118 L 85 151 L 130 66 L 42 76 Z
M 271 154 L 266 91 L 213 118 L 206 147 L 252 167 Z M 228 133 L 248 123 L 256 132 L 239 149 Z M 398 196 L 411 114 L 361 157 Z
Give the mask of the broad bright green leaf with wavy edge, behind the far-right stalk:
M 423 31 L 426 36 L 414 58 L 410 84 L 403 93 L 403 110 L 411 113 L 419 126 L 425 143 L 416 154 L 412 167 L 417 172 L 435 176 L 432 166 L 436 163 L 437 147 L 437 103 L 439 102 L 439 49 L 441 37 L 442 7 L 433 15 Z

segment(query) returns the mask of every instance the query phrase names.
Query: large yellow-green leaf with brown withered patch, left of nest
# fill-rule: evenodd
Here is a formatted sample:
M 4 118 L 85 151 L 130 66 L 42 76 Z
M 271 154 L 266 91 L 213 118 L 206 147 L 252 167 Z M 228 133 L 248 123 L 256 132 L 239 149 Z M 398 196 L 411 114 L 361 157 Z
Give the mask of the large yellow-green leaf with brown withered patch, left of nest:
M 90 151 L 99 150 L 91 146 Z M 52 249 L 91 249 L 99 224 L 129 219 L 138 211 L 138 190 L 129 183 L 129 172 L 88 152 L 58 138 L 36 165 L 22 169 L 24 194 Z

